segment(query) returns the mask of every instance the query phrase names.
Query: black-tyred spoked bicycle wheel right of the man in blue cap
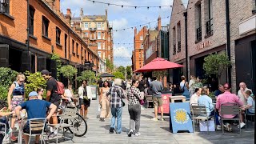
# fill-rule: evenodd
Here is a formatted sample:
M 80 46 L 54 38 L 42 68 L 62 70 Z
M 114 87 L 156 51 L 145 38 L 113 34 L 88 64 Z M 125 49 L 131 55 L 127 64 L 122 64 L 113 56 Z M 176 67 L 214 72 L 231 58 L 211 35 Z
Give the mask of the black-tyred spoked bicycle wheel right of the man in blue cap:
M 70 121 L 68 121 L 70 122 Z M 84 118 L 80 114 L 77 113 L 77 118 L 74 118 L 74 129 L 68 127 L 68 130 L 70 130 L 70 133 L 77 137 L 82 137 L 86 135 L 87 132 L 87 123 Z M 74 131 L 73 131 L 74 130 Z

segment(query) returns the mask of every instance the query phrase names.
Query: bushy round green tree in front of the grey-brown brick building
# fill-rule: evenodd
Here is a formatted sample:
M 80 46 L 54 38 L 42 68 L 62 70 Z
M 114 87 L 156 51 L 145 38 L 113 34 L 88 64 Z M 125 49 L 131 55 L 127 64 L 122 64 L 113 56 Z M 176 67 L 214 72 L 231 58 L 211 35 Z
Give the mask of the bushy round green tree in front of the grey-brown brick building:
M 226 53 L 223 54 L 210 54 L 204 58 L 205 62 L 203 63 L 203 70 L 206 71 L 206 75 L 209 77 L 212 74 L 218 77 L 218 82 L 221 82 L 221 77 L 223 72 L 230 66 L 229 58 L 226 56 Z

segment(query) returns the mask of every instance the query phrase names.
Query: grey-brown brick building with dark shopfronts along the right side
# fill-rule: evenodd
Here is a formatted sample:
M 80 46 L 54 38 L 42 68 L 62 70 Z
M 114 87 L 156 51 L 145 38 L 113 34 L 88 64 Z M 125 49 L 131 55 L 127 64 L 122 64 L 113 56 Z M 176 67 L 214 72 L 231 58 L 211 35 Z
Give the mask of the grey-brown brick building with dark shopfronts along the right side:
M 188 3 L 187 6 L 186 3 Z M 253 65 L 255 62 L 255 31 L 253 31 L 255 30 L 255 13 L 253 10 L 255 10 L 255 1 L 229 1 L 232 65 L 230 80 L 234 92 L 237 90 L 238 83 L 242 81 L 255 90 L 255 65 Z M 179 81 L 178 78 L 182 73 L 206 78 L 202 69 L 204 58 L 209 54 L 221 54 L 228 50 L 225 1 L 174 0 L 170 20 L 170 51 L 172 53 L 170 60 L 172 62 L 186 66 L 184 14 L 187 14 L 188 67 L 183 70 L 172 70 L 171 79 L 174 82 Z M 249 27 L 246 28 L 246 26 Z M 242 64 L 243 59 L 248 65 Z M 220 83 L 228 82 L 228 78 L 227 73 L 222 74 Z

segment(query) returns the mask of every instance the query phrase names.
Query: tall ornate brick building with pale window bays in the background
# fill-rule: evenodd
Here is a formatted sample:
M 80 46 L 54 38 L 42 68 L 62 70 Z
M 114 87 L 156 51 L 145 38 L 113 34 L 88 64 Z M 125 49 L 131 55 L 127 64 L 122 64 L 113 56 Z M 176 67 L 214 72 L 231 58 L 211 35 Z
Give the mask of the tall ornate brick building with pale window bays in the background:
M 112 26 L 107 20 L 107 10 L 105 15 L 84 15 L 81 9 L 80 17 L 71 19 L 71 26 L 99 58 L 114 62 Z

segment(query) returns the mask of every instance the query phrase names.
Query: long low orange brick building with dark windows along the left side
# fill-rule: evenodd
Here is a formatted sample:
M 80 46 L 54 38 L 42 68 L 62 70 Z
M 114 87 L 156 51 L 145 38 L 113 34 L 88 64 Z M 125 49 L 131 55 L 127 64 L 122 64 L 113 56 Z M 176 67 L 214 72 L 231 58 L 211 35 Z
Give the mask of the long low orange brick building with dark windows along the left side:
M 25 0 L 4 2 L 0 4 L 0 66 L 21 72 L 47 69 L 56 76 L 56 64 L 50 59 L 55 52 L 63 64 L 97 71 L 98 55 L 70 27 L 71 11 L 65 17 L 60 13 L 60 0 L 30 1 L 29 5 Z M 86 68 L 85 62 L 90 66 Z

